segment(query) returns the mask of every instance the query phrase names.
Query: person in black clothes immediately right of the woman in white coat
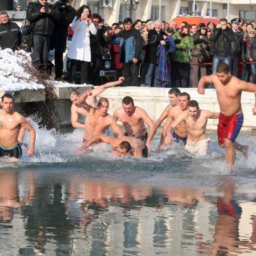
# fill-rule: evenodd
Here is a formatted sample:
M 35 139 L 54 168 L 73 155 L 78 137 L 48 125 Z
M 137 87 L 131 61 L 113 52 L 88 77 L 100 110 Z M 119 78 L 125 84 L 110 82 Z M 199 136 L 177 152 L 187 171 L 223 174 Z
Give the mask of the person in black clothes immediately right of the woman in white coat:
M 90 32 L 91 62 L 89 68 L 89 83 L 94 86 L 99 85 L 100 68 L 102 66 L 102 56 L 104 51 L 108 51 L 108 43 L 111 40 L 110 32 L 105 26 L 99 26 L 102 20 L 98 13 L 92 14 L 92 23 L 94 23 L 97 33 L 94 35 Z

